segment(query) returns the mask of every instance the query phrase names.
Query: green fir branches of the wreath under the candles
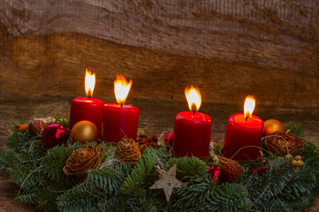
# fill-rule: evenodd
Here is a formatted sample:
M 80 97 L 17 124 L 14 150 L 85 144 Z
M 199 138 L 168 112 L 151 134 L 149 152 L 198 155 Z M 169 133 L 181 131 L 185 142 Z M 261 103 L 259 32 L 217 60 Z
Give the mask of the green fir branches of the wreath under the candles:
M 66 120 L 58 122 L 68 125 Z M 302 136 L 300 125 L 290 123 L 286 129 Z M 100 144 L 105 148 L 100 168 L 89 170 L 85 179 L 66 176 L 62 170 L 66 159 L 82 144 L 46 149 L 28 131 L 17 132 L 14 125 L 12 131 L 7 146 L 14 151 L 0 151 L 0 169 L 20 186 L 17 201 L 43 211 L 304 211 L 319 193 L 319 154 L 306 140 L 300 152 L 302 168 L 264 154 L 268 171 L 263 176 L 250 176 L 244 167 L 235 183 L 219 186 L 198 158 L 175 158 L 165 147 L 146 148 L 141 159 L 130 165 L 114 160 L 116 147 L 107 143 Z M 162 190 L 148 188 L 159 179 L 155 164 L 168 170 L 175 163 L 176 178 L 186 187 L 174 189 L 167 202 Z

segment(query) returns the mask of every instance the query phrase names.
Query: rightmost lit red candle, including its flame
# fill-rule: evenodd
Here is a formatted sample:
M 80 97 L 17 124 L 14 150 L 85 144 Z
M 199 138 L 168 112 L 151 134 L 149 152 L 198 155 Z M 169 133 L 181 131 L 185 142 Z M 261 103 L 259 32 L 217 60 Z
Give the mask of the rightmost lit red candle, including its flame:
M 231 115 L 227 123 L 222 154 L 237 161 L 254 161 L 261 158 L 263 121 L 261 117 L 252 115 L 254 100 L 250 109 L 249 101 L 245 101 L 245 113 Z

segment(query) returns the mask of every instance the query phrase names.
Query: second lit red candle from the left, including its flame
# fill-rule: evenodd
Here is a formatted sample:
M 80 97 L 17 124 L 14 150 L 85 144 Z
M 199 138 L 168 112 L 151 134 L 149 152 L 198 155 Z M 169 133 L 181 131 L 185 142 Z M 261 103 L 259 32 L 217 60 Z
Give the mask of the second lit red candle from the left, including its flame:
M 131 105 L 125 105 L 128 92 L 132 86 L 122 76 L 114 80 L 114 93 L 118 103 L 106 103 L 103 113 L 103 131 L 101 140 L 118 143 L 122 138 L 136 140 L 139 110 Z

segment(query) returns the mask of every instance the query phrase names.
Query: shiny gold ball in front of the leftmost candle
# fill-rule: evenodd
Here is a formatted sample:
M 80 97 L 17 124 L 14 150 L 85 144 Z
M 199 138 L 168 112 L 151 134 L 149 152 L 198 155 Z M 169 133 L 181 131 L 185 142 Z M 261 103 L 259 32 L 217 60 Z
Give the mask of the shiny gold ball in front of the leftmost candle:
M 72 139 L 84 144 L 97 140 L 97 126 L 89 121 L 79 121 L 72 128 Z

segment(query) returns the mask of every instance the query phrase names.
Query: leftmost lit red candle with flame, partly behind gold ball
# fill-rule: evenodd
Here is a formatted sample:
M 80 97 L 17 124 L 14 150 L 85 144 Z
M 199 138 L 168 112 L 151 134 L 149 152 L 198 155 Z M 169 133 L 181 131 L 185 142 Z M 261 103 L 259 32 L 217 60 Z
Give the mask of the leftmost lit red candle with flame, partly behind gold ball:
M 86 70 L 85 91 L 88 97 L 76 97 L 71 103 L 70 125 L 72 127 L 79 121 L 87 120 L 97 126 L 98 133 L 101 132 L 104 101 L 91 98 L 95 87 L 95 73 Z

